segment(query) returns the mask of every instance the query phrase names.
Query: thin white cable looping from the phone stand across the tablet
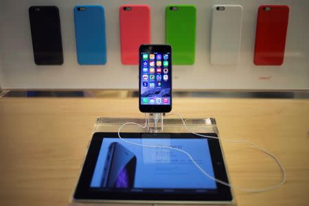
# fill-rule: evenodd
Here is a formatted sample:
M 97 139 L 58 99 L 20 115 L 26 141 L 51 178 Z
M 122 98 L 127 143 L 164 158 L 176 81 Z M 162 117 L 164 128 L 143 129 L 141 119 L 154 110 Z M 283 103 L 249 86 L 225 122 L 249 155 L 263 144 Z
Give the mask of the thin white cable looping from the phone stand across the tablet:
M 126 142 L 128 144 L 133 144 L 135 146 L 141 146 L 141 147 L 146 147 L 146 148 L 158 148 L 159 147 L 159 148 L 166 148 L 166 149 L 176 150 L 176 151 L 182 152 L 183 154 L 187 155 L 187 157 L 189 157 L 190 160 L 194 163 L 196 168 L 198 168 L 198 170 L 200 170 L 209 179 L 212 179 L 212 180 L 214 180 L 214 181 L 216 181 L 216 182 L 218 182 L 218 183 L 220 183 L 222 185 L 226 185 L 228 187 L 233 187 L 233 188 L 235 188 L 237 190 L 241 190 L 241 191 L 244 191 L 244 192 L 266 192 L 266 191 L 269 191 L 269 190 L 273 190 L 276 187 L 279 187 L 279 186 L 281 186 L 281 185 L 283 185 L 285 183 L 285 181 L 286 181 L 286 171 L 284 170 L 284 167 L 283 167 L 282 163 L 280 163 L 279 159 L 277 159 L 277 157 L 275 157 L 275 155 L 271 154 L 270 152 L 267 152 L 266 150 L 264 150 L 260 146 L 257 146 L 253 142 L 247 141 L 247 140 L 227 140 L 227 139 L 223 139 L 223 138 L 219 138 L 219 137 L 212 137 L 212 136 L 207 136 L 207 135 L 201 135 L 201 134 L 198 134 L 198 133 L 194 133 L 192 130 L 187 128 L 187 125 L 185 124 L 185 121 L 183 120 L 183 117 L 181 117 L 181 115 L 172 114 L 172 113 L 168 114 L 168 115 L 176 115 L 177 117 L 179 117 L 181 119 L 181 121 L 183 122 L 183 126 L 185 126 L 185 129 L 187 131 L 189 131 L 190 133 L 194 134 L 194 135 L 197 135 L 197 136 L 200 136 L 200 137 L 212 138 L 212 139 L 220 139 L 222 141 L 227 141 L 227 142 L 231 142 L 231 143 L 247 143 L 247 144 L 251 144 L 251 146 L 253 146 L 254 148 L 260 150 L 261 152 L 264 152 L 266 155 L 269 155 L 270 157 L 275 159 L 275 162 L 277 163 L 277 165 L 279 165 L 280 171 L 282 172 L 282 180 L 279 183 L 277 183 L 276 185 L 273 185 L 273 186 L 270 186 L 270 187 L 258 188 L 258 189 L 247 188 L 247 187 L 238 187 L 238 186 L 235 186 L 235 185 L 231 185 L 230 183 L 227 183 L 225 181 L 221 181 L 220 179 L 216 179 L 214 176 L 209 175 L 207 172 L 205 172 L 205 170 L 203 170 L 203 168 L 201 168 L 200 165 L 198 165 L 198 163 L 196 163 L 196 161 L 193 159 L 193 157 L 188 152 L 186 152 L 185 150 L 181 150 L 179 148 L 172 148 L 170 146 L 161 146 L 161 145 L 160 146 L 153 146 L 153 145 L 147 145 L 147 144 L 138 144 L 138 143 L 135 143 L 135 142 L 127 141 L 126 139 L 123 139 L 120 136 L 120 131 L 122 130 L 122 127 L 124 127 L 124 126 L 126 126 L 128 124 L 134 124 L 134 125 L 140 126 L 141 128 L 146 128 L 146 126 L 147 126 L 147 118 L 146 118 L 144 126 L 142 126 L 141 124 L 137 124 L 135 122 L 126 122 L 126 123 L 122 124 L 122 126 L 120 126 L 119 129 L 118 129 L 118 137 L 122 141 L 124 141 L 124 142 Z

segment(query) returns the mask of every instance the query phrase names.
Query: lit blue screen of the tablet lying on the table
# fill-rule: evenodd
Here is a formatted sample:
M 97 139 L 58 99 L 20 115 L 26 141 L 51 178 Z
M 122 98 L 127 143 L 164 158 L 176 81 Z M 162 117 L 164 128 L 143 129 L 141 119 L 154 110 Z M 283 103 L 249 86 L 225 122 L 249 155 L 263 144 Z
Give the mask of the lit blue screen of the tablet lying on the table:
M 209 190 L 216 192 L 216 182 L 207 178 L 183 152 L 184 150 L 205 172 L 214 176 L 207 139 L 140 139 L 119 138 L 102 141 L 91 187 L 128 188 L 134 190 L 171 189 Z

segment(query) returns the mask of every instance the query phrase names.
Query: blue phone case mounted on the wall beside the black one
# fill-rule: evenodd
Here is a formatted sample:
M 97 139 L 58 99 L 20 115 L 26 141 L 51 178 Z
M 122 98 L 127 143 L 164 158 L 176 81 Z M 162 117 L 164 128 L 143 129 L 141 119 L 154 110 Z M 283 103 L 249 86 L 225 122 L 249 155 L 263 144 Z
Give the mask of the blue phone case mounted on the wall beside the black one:
M 101 5 L 76 5 L 74 23 L 78 63 L 80 65 L 105 65 L 104 8 Z

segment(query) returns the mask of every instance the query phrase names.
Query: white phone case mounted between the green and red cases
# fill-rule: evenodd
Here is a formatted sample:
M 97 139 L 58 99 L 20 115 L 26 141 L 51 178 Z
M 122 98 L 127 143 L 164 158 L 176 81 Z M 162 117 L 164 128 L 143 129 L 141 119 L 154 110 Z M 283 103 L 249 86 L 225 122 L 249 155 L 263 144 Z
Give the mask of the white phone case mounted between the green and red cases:
M 237 65 L 241 34 L 242 6 L 214 5 L 211 23 L 211 65 Z

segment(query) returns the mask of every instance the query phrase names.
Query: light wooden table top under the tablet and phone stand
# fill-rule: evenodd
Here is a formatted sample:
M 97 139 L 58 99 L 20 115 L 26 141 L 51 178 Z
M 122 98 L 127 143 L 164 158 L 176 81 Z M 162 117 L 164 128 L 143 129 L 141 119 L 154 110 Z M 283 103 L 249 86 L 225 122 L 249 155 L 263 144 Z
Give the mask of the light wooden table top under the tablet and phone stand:
M 95 118 L 143 117 L 136 98 L 0 98 L 0 205 L 67 205 Z M 174 98 L 174 113 L 216 117 L 220 137 L 249 139 L 285 169 L 265 193 L 234 190 L 238 205 L 309 204 L 309 100 Z M 266 187 L 281 178 L 273 159 L 223 142 L 231 183 Z

